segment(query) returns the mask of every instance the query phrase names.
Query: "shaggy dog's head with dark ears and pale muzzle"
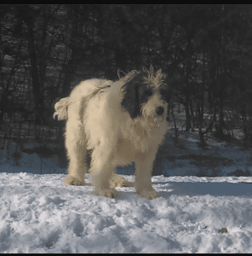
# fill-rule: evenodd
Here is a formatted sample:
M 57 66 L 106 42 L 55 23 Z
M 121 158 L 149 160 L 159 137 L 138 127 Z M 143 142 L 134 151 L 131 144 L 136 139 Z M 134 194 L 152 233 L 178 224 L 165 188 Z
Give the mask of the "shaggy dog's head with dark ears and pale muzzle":
M 152 66 L 150 71 L 143 68 L 141 72 L 126 75 L 121 104 L 131 119 L 144 116 L 158 123 L 167 117 L 169 88 L 163 79 L 162 71 L 154 73 Z

